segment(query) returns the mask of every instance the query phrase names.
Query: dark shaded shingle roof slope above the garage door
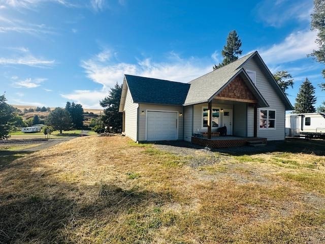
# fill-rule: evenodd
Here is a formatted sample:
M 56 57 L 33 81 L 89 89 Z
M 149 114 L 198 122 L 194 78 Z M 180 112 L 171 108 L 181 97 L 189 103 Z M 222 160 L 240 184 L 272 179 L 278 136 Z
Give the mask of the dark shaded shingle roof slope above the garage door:
M 125 75 L 128 88 L 135 103 L 183 105 L 190 84 Z

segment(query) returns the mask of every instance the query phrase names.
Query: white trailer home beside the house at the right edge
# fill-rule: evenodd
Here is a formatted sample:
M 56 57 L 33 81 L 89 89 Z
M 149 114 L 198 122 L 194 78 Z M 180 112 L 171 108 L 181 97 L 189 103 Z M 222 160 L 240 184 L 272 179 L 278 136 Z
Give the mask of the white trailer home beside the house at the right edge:
M 325 138 L 325 113 L 286 114 L 285 135 Z

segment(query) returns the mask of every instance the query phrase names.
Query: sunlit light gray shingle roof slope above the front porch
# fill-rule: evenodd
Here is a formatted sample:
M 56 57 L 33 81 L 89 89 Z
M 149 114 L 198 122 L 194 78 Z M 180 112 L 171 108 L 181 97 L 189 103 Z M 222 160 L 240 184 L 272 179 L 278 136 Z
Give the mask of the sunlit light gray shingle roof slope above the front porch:
M 235 62 L 205 74 L 189 82 L 191 84 L 184 105 L 207 102 L 238 71 L 239 67 L 253 54 L 250 53 Z

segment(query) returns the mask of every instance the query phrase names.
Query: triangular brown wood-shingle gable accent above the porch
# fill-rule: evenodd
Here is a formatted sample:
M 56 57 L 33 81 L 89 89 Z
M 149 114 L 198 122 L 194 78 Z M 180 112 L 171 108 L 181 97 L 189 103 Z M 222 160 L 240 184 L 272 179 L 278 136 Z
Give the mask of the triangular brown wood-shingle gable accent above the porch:
M 216 99 L 257 103 L 257 99 L 239 75 L 221 90 Z

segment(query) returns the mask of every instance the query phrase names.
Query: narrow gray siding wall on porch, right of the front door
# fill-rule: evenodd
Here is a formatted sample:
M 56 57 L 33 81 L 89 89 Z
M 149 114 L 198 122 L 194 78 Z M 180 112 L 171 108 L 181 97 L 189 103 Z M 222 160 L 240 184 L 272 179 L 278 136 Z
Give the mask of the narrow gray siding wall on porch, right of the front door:
M 236 103 L 234 105 L 234 135 L 246 136 L 246 103 Z

